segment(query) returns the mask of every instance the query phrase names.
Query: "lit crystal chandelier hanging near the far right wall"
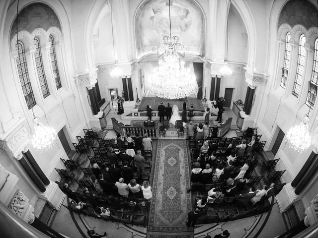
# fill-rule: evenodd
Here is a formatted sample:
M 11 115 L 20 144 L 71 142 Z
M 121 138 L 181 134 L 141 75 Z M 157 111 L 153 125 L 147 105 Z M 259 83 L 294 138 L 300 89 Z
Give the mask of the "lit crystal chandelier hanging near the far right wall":
M 289 129 L 286 136 L 286 142 L 289 147 L 302 153 L 311 145 L 312 139 L 308 132 L 309 117 L 306 115 L 299 125 L 295 125 Z

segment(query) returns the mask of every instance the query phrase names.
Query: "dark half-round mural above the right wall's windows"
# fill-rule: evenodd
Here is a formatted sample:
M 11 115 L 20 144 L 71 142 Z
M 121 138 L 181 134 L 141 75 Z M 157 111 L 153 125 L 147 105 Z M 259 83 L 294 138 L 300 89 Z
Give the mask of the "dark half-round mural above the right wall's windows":
M 300 24 L 307 30 L 318 27 L 318 9 L 309 0 L 290 0 L 282 8 L 277 29 L 284 23 L 292 28 Z

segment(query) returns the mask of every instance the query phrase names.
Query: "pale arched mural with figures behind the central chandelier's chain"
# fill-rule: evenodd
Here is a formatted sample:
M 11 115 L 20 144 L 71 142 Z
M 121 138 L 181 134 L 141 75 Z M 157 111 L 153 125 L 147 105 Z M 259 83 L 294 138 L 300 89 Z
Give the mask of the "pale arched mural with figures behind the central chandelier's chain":
M 185 53 L 204 56 L 205 19 L 193 0 L 171 0 L 171 35 L 178 36 Z M 135 33 L 137 53 L 141 57 L 156 53 L 162 37 L 169 35 L 169 4 L 167 0 L 145 0 L 137 9 Z

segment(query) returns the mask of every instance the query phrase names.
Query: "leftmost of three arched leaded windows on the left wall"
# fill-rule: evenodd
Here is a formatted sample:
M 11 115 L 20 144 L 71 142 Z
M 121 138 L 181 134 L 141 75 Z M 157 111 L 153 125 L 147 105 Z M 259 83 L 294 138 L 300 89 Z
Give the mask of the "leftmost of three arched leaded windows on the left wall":
M 25 102 L 28 106 L 28 109 L 31 109 L 36 105 L 36 102 L 33 95 L 32 86 L 30 83 L 28 67 L 26 66 L 24 45 L 21 41 L 18 41 L 16 47 L 18 49 L 18 57 L 16 59 L 16 66 L 18 68 L 22 91 L 23 91 Z

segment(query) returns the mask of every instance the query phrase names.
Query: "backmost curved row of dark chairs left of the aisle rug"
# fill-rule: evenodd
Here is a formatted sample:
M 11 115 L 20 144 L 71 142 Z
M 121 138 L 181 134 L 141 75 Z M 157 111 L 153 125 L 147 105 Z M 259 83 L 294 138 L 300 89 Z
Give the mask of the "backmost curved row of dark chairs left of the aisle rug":
M 76 214 L 82 214 L 84 216 L 90 216 L 97 219 L 103 219 L 104 221 L 111 221 L 111 222 L 121 222 L 123 224 L 132 224 L 132 225 L 142 225 L 146 226 L 147 216 L 146 215 L 137 215 L 137 214 L 128 214 L 124 212 L 117 212 L 115 210 L 111 210 L 110 216 L 102 216 L 102 215 L 96 215 L 93 212 L 92 208 L 88 208 L 87 210 L 76 210 L 72 209 L 69 206 L 65 206 L 69 211 L 74 212 Z

